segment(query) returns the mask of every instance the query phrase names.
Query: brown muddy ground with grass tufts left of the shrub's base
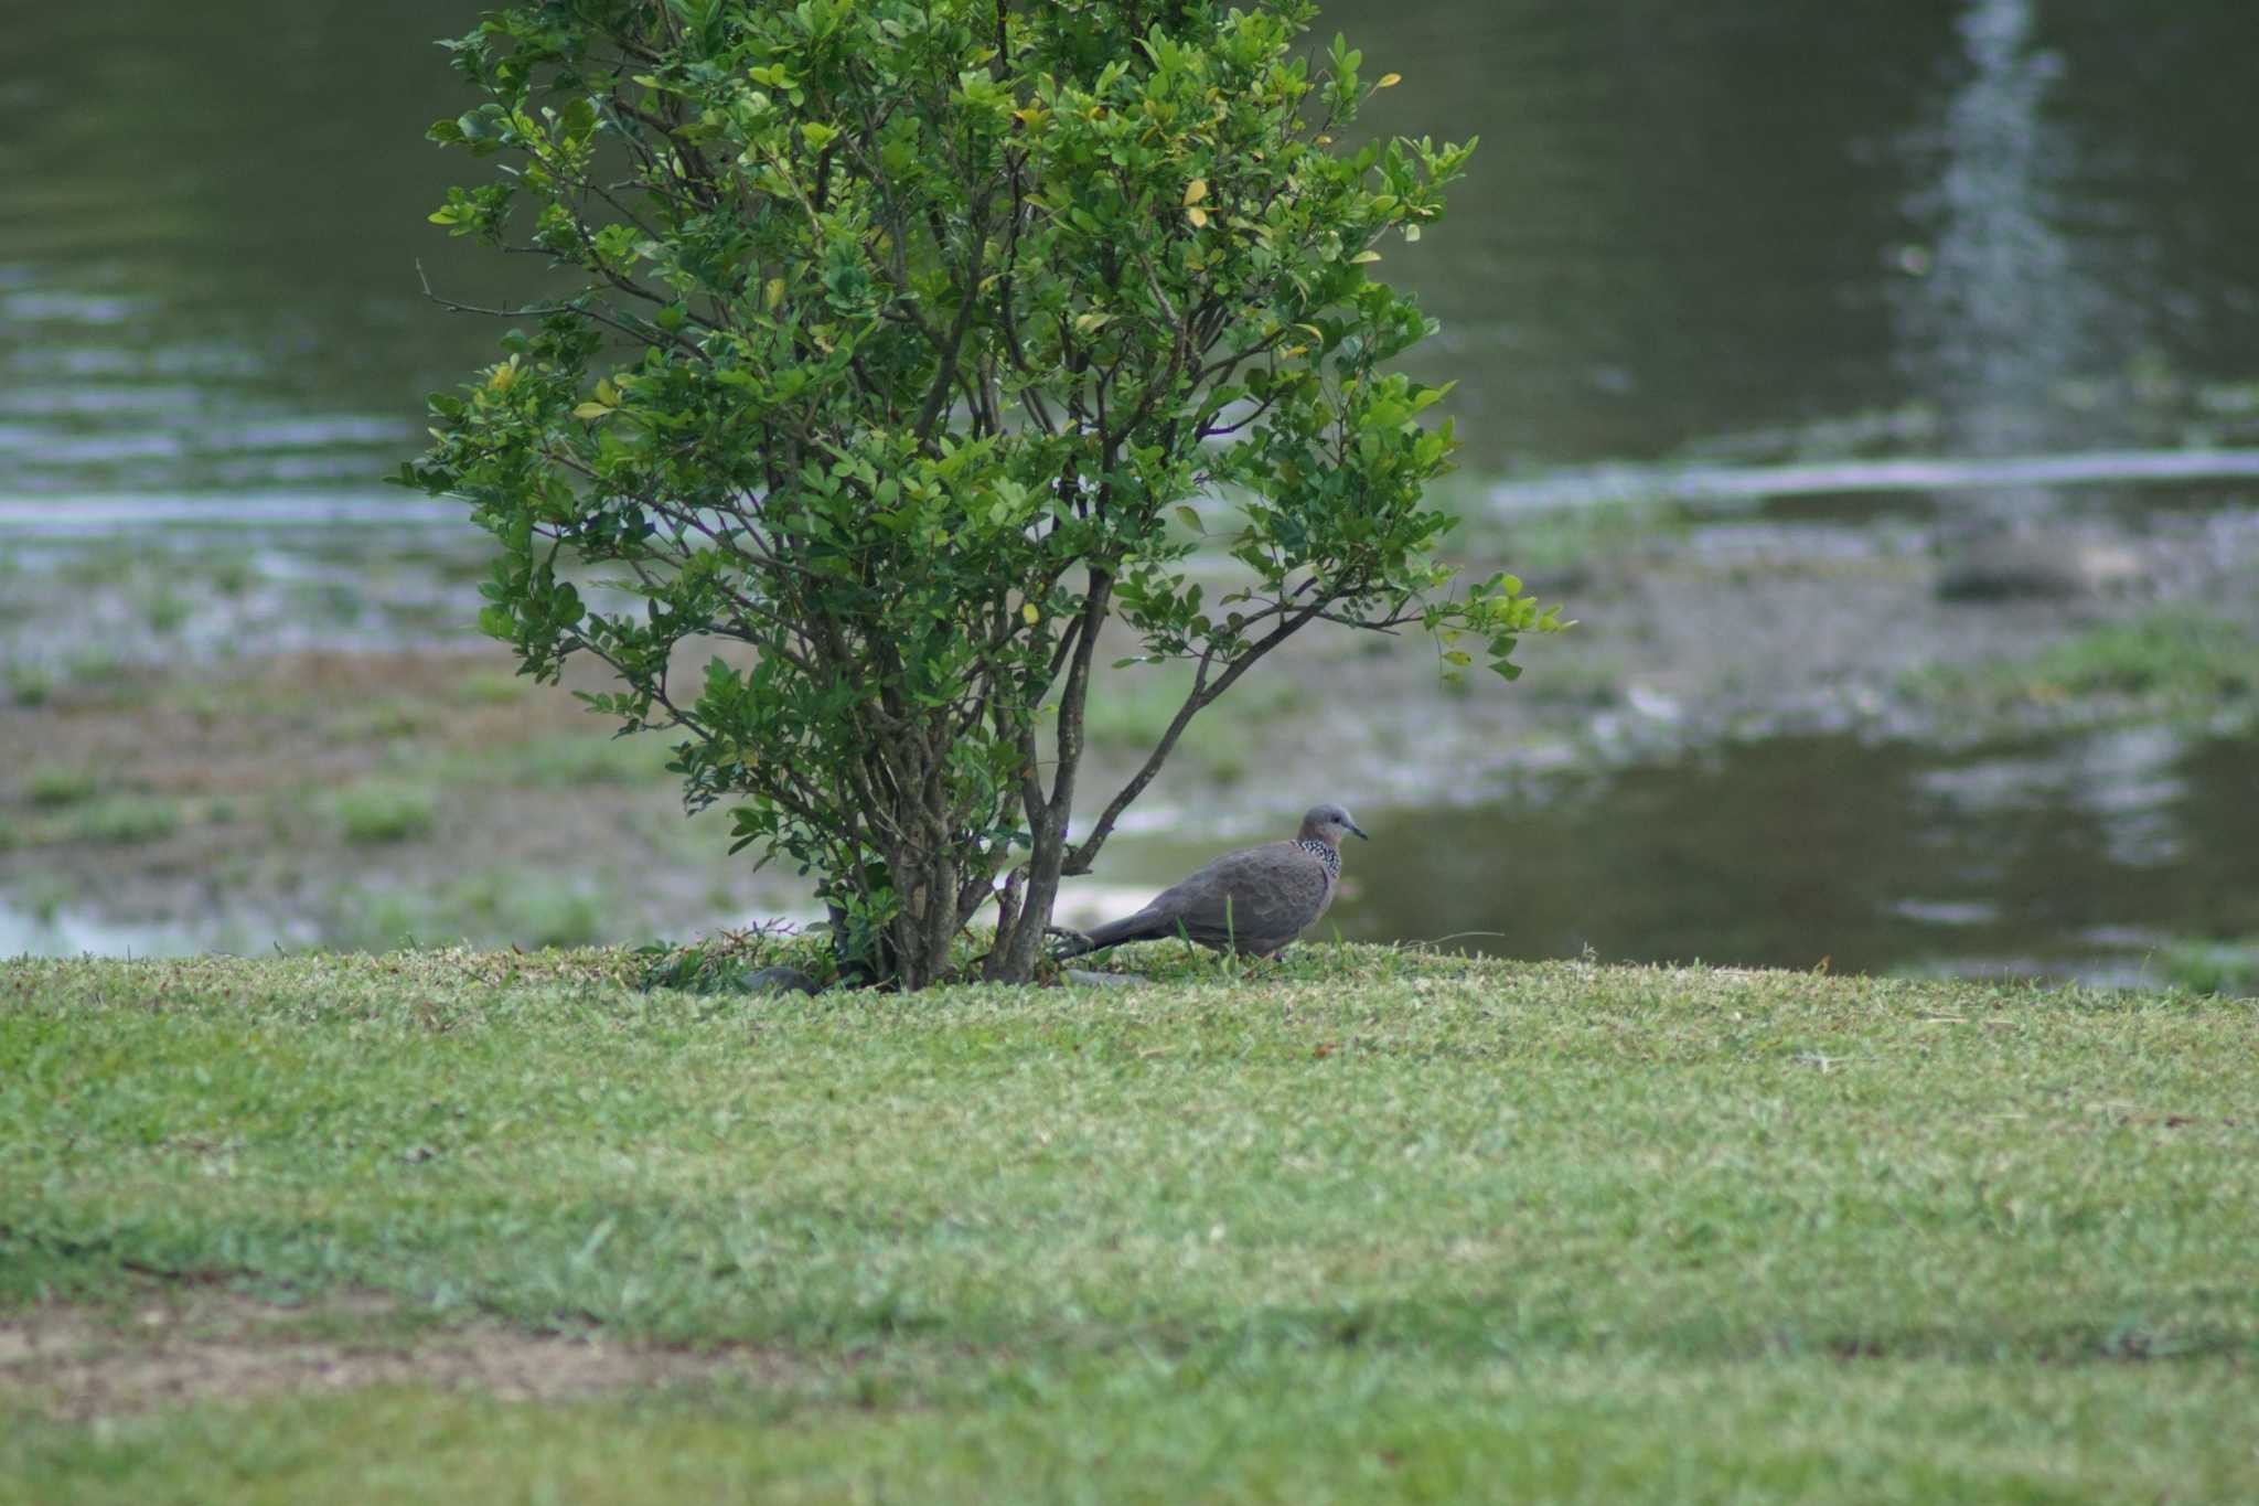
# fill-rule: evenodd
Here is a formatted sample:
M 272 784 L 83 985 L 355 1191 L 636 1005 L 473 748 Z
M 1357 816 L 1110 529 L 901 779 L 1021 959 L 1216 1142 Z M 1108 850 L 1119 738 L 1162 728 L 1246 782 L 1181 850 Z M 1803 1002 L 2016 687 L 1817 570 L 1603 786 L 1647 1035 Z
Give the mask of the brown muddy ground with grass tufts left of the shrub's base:
M 32 774 L 0 768 L 0 905 L 185 926 L 217 951 L 619 942 L 788 908 L 727 856 L 725 815 L 684 820 L 662 738 L 612 743 L 508 666 L 278 655 L 0 709 L 0 750 L 38 752 Z M 86 795 L 54 804 L 79 788 L 52 770 Z

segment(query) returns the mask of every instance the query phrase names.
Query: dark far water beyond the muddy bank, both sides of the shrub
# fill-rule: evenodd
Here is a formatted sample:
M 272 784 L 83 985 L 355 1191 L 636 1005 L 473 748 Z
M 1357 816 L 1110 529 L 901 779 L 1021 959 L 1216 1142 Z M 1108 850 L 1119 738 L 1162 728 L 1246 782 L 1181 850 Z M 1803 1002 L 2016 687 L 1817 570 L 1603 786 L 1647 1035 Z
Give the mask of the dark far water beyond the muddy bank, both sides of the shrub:
M 357 488 L 524 264 L 425 212 L 479 165 L 429 38 L 477 0 L 7 7 L 0 494 Z M 2130 370 L 2250 379 L 2248 0 L 1333 0 L 1376 129 L 1482 135 L 1385 271 L 1477 467 L 2112 438 Z M 472 174 L 477 176 L 477 174 Z M 2085 406 L 2078 406 L 2085 404 Z M 2123 436 L 2119 436 L 2123 438 Z

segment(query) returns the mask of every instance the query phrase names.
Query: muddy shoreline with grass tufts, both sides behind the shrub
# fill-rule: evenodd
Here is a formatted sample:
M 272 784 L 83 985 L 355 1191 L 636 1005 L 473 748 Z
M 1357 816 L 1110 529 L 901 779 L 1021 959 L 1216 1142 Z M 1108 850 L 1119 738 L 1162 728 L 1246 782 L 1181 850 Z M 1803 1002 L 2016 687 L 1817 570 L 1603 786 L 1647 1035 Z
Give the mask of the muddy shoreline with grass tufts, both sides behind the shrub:
M 1523 646 L 1518 684 L 1444 686 L 1419 639 L 1306 634 L 1195 725 L 1069 912 L 1148 883 L 1141 844 L 1263 833 L 1317 797 L 1360 813 L 1545 802 L 1778 736 L 1945 747 L 2157 716 L 2248 727 L 2250 698 L 1972 700 L 1936 677 L 2160 612 L 2259 641 L 2259 506 L 1956 517 L 1782 506 L 1604 517 L 1568 537 L 1559 519 L 1473 526 L 1468 569 L 1536 555 L 1525 578 L 1577 621 Z M 804 914 L 788 874 L 727 858 L 723 817 L 682 817 L 657 738 L 610 741 L 461 628 L 481 573 L 465 540 L 16 546 L 0 571 L 5 951 L 538 946 Z M 1109 689 L 1091 811 L 1168 707 L 1166 671 Z

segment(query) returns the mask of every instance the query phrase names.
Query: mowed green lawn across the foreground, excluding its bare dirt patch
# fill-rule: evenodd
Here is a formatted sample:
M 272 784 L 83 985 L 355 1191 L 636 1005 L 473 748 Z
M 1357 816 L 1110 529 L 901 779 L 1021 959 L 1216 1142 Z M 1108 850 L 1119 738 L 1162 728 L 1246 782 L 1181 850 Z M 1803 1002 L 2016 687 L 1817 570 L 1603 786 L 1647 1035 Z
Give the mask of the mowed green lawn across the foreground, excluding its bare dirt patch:
M 716 1375 L 63 1420 L 0 1371 L 0 1492 L 2259 1495 L 2252 1000 L 1143 962 L 917 998 L 7 964 L 0 1343 L 70 1303 L 131 1348 L 224 1282 Z

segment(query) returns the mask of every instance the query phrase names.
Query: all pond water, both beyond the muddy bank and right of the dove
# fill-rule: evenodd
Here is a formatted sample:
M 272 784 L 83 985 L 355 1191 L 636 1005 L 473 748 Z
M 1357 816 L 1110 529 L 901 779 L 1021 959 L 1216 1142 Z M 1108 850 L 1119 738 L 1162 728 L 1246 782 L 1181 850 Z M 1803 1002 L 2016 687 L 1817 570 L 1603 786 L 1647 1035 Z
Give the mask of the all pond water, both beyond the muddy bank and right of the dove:
M 0 551 L 172 522 L 461 533 L 375 481 L 495 339 L 420 298 L 418 260 L 468 300 L 524 275 L 425 224 L 474 167 L 420 140 L 468 104 L 429 38 L 479 9 L 16 7 Z M 1373 129 L 1482 135 L 1448 221 L 1383 269 L 1444 321 L 1416 366 L 1459 382 L 1495 479 L 2250 443 L 2252 16 L 1331 0 L 1322 25 L 1405 75 Z M 2112 736 L 1974 761 L 1758 743 L 1584 799 L 1398 813 L 1342 919 L 1839 969 L 2083 969 L 2146 928 L 2259 930 L 2250 750 Z

